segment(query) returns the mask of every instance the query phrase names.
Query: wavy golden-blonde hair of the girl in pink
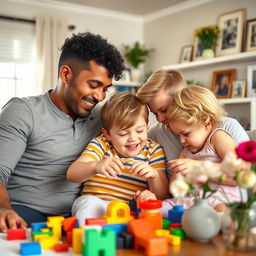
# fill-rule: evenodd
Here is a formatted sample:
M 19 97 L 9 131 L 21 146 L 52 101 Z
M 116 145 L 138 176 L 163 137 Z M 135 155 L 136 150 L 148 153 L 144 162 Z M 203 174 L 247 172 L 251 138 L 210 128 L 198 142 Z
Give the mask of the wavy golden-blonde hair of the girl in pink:
M 168 108 L 169 121 L 181 120 L 196 126 L 210 121 L 213 127 L 219 127 L 221 117 L 225 114 L 215 95 L 207 88 L 197 85 L 178 92 Z

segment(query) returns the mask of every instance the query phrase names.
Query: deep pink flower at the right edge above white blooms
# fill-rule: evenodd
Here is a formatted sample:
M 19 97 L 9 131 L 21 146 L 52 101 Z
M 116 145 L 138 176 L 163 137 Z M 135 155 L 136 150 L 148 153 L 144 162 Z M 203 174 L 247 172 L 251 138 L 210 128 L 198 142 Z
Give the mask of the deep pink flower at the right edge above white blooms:
M 256 141 L 246 141 L 236 147 L 236 154 L 239 158 L 251 163 L 256 162 Z

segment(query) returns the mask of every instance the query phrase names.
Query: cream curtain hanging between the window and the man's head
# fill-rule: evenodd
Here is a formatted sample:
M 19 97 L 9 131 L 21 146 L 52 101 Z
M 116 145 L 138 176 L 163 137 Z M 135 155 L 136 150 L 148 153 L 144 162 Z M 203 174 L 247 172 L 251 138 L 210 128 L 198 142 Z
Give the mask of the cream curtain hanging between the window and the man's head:
M 63 18 L 36 17 L 37 94 L 56 86 L 60 48 L 67 37 L 67 26 L 67 21 Z

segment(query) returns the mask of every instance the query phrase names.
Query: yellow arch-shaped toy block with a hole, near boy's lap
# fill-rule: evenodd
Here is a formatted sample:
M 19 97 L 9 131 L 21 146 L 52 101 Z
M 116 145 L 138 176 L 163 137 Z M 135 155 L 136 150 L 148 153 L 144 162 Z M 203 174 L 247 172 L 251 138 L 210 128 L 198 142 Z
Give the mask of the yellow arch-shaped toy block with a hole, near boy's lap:
M 134 219 L 131 216 L 129 205 L 119 200 L 113 200 L 108 204 L 106 215 L 103 218 L 106 218 L 108 224 L 127 223 Z

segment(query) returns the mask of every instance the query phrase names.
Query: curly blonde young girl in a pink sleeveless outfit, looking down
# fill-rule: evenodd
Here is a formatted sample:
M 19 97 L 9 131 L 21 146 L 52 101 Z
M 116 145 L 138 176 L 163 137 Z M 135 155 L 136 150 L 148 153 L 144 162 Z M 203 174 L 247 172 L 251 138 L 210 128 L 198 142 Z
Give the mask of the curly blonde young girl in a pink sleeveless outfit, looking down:
M 169 128 L 179 136 L 183 146 L 180 158 L 218 163 L 227 152 L 235 150 L 236 144 L 231 135 L 220 128 L 224 113 L 214 94 L 206 88 L 194 85 L 176 94 L 168 108 L 168 116 Z M 169 163 L 175 170 L 171 182 L 177 173 L 186 174 L 187 169 L 183 168 L 182 160 L 175 159 Z M 208 199 L 209 204 L 216 211 L 223 212 L 225 203 L 240 201 L 239 188 L 231 179 L 225 180 L 221 185 L 212 183 L 211 187 L 218 190 Z M 167 199 L 162 209 L 164 215 L 166 216 L 174 205 L 189 208 L 194 204 L 194 200 L 194 197 Z

